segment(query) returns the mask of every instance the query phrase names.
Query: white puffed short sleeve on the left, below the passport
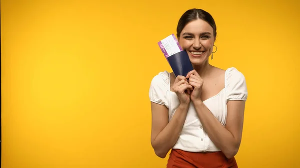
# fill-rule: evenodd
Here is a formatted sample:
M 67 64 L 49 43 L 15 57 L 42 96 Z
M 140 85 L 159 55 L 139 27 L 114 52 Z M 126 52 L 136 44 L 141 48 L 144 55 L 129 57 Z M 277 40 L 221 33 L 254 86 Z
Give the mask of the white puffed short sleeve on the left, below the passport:
M 149 88 L 149 99 L 151 102 L 164 105 L 168 108 L 168 86 L 169 73 L 159 72 L 152 78 Z

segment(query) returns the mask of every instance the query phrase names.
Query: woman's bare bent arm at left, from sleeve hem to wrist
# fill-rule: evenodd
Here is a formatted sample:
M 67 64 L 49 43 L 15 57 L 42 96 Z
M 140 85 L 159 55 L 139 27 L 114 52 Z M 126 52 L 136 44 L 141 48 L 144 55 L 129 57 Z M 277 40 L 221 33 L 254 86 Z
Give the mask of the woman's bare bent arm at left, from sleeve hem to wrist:
M 151 145 L 158 157 L 165 158 L 166 154 L 176 143 L 182 130 L 187 110 L 188 104 L 180 104 L 174 116 L 168 122 L 168 109 L 163 105 L 151 102 Z

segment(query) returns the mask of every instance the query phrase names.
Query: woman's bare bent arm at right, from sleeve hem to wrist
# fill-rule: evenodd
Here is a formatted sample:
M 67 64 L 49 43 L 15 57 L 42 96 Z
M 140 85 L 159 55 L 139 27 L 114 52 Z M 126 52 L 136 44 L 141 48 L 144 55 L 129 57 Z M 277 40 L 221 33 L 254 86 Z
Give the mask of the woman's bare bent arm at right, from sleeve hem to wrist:
M 211 141 L 224 153 L 226 158 L 234 157 L 241 142 L 245 101 L 228 101 L 225 127 L 220 124 L 202 101 L 197 100 L 193 104 Z

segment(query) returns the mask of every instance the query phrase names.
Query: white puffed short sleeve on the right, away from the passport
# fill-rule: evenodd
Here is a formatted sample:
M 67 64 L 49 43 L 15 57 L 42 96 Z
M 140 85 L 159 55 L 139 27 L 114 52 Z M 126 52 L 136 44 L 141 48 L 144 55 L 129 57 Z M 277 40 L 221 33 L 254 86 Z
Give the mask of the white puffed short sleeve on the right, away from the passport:
M 248 91 L 244 75 L 236 68 L 228 68 L 225 75 L 226 100 L 246 101 Z

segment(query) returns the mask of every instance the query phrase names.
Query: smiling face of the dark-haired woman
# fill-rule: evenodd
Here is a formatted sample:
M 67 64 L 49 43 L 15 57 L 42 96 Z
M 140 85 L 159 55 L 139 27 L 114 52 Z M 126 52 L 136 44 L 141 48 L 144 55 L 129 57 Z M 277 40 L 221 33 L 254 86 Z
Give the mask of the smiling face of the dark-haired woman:
M 178 41 L 182 49 L 187 51 L 190 62 L 201 65 L 212 52 L 213 29 L 202 19 L 193 20 L 182 29 Z

